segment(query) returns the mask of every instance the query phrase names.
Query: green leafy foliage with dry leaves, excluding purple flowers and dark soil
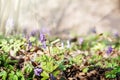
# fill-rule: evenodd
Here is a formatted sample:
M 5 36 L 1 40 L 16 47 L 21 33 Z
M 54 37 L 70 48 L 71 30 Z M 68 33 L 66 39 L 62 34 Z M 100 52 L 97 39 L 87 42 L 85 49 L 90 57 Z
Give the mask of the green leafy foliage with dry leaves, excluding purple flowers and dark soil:
M 72 65 L 82 66 L 84 73 L 93 65 L 112 68 L 105 76 L 115 78 L 120 73 L 120 38 L 94 34 L 83 36 L 83 39 L 81 44 L 78 41 L 68 44 L 59 39 L 47 39 L 45 49 L 36 36 L 26 39 L 21 35 L 0 35 L 0 79 L 46 80 L 50 78 L 50 74 L 57 78 Z M 67 45 L 70 47 L 66 47 Z M 112 47 L 110 53 L 107 53 L 108 46 Z M 39 76 L 35 74 L 35 68 L 42 69 Z

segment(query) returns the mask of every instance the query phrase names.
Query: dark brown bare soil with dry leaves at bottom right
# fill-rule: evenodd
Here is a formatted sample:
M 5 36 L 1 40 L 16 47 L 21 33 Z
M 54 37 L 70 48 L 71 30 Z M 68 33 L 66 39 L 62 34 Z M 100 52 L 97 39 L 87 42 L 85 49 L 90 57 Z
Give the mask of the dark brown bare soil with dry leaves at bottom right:
M 120 80 L 120 74 L 116 74 L 116 78 L 107 79 L 105 73 L 112 68 L 100 68 L 99 66 L 92 67 L 87 73 L 83 73 L 78 66 L 71 66 L 63 71 L 65 80 Z

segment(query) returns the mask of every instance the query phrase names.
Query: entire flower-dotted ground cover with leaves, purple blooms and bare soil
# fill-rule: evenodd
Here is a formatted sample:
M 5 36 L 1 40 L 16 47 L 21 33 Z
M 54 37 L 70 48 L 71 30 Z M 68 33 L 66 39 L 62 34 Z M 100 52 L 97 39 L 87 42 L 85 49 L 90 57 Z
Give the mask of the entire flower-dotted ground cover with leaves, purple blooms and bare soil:
M 120 36 L 0 35 L 1 80 L 120 80 Z

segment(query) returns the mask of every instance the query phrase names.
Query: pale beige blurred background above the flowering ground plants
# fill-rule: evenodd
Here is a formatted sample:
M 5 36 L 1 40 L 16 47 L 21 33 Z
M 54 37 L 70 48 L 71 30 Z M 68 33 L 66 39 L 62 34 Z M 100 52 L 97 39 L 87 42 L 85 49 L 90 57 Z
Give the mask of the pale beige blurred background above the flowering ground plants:
M 119 32 L 120 0 L 0 0 L 0 33 Z

